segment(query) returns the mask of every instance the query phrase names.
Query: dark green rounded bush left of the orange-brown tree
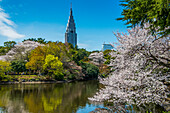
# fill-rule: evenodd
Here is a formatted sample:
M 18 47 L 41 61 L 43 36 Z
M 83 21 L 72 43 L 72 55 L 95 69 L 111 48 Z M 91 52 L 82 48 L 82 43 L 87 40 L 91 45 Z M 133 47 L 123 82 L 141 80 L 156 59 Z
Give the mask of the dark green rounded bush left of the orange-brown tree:
M 26 67 L 25 67 L 26 62 L 24 60 L 15 60 L 11 62 L 11 68 L 12 71 L 14 72 L 25 72 Z

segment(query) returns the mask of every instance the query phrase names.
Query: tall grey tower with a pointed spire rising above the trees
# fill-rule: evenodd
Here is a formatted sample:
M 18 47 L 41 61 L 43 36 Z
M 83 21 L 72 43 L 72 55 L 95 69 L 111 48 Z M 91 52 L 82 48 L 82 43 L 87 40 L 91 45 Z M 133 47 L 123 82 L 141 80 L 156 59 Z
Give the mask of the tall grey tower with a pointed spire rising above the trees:
M 72 7 L 70 8 L 70 16 L 65 33 L 65 42 L 71 43 L 74 47 L 77 45 L 77 33 L 73 19 Z

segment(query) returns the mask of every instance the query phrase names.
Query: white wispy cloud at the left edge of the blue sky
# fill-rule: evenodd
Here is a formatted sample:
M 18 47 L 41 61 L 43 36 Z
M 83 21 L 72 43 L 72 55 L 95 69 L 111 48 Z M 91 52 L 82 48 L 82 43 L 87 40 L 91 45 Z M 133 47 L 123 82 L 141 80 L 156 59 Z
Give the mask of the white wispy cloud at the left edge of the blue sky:
M 13 21 L 9 20 L 9 18 L 9 15 L 6 14 L 2 8 L 0 8 L 0 35 L 8 37 L 9 40 L 25 37 L 15 31 L 15 24 Z

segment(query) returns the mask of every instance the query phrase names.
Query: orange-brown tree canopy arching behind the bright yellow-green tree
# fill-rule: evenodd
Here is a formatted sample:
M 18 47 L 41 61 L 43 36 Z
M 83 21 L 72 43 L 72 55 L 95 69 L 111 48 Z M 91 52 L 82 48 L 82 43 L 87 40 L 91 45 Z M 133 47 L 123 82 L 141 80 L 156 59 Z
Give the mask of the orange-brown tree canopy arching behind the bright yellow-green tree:
M 51 42 L 45 46 L 38 46 L 29 56 L 29 62 L 26 64 L 27 69 L 43 71 L 43 65 L 47 55 L 54 55 L 62 63 L 67 63 L 72 60 L 72 54 L 68 46 L 61 42 Z

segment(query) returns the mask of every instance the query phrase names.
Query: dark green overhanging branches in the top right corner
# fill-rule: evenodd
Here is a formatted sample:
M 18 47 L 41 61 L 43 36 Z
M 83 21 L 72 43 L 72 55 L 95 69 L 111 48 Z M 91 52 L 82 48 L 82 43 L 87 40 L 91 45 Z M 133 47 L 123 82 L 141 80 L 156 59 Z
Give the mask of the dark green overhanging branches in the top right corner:
M 170 33 L 170 2 L 169 0 L 122 0 L 124 7 L 122 18 L 128 27 L 149 23 L 152 34 L 166 36 Z

